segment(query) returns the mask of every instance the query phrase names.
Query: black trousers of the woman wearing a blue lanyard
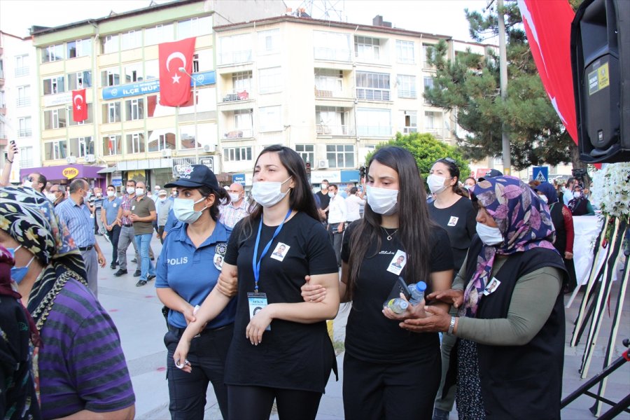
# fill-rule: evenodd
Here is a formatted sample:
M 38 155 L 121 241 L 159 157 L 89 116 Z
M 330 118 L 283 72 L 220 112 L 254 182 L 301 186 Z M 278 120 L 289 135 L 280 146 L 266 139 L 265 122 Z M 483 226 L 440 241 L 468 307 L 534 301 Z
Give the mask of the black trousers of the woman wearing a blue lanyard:
M 280 420 L 314 420 L 321 393 L 267 386 L 228 385 L 231 419 L 267 420 L 274 399 Z

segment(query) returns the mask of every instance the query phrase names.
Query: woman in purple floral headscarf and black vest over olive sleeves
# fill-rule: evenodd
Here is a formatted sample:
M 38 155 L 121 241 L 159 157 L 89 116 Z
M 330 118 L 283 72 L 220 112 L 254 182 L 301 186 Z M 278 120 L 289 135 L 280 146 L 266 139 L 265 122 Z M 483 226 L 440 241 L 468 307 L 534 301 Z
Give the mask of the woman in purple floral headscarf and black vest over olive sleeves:
M 458 337 L 459 419 L 560 419 L 566 271 L 547 207 L 512 176 L 480 182 L 472 200 L 478 236 L 453 289 L 427 296 L 453 302 L 458 316 L 435 305 L 425 318 L 384 314 Z

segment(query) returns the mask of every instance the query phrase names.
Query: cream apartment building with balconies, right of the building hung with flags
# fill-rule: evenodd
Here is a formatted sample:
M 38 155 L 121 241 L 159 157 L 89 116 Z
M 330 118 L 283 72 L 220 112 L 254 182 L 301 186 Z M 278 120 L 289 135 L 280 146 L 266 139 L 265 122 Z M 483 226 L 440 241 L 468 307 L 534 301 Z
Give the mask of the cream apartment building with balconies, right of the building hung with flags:
M 426 49 L 452 49 L 450 37 L 383 25 L 283 15 L 215 27 L 225 172 L 249 185 L 256 155 L 279 143 L 309 162 L 313 183 L 351 183 L 396 132 L 453 144 L 451 116 L 423 99 L 435 74 Z

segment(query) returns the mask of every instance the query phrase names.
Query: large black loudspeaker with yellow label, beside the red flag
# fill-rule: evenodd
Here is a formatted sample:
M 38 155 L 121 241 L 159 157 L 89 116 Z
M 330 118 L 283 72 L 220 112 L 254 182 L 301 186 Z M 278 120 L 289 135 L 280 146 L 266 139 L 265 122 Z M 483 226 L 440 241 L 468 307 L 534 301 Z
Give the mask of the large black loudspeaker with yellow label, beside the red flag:
M 630 0 L 584 0 L 571 68 L 580 160 L 630 161 Z

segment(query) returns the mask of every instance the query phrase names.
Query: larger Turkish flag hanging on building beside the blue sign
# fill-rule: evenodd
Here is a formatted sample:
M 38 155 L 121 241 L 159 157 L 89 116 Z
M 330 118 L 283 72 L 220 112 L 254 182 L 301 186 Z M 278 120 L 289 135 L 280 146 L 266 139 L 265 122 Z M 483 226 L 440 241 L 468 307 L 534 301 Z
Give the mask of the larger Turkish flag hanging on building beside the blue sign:
M 160 105 L 180 106 L 190 99 L 190 76 L 193 73 L 195 38 L 158 45 L 160 64 Z M 186 73 L 179 68 L 186 69 Z

